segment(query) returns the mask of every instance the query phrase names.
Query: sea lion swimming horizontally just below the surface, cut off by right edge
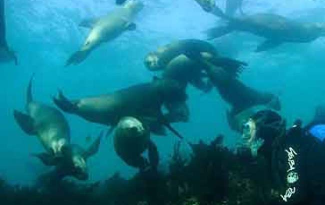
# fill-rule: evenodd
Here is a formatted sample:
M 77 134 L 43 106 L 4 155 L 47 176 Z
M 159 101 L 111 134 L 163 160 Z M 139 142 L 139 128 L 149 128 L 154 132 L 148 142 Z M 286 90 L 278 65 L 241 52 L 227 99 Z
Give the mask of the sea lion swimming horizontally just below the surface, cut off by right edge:
M 217 38 L 232 31 L 245 31 L 265 37 L 256 52 L 274 48 L 284 42 L 311 42 L 325 35 L 324 23 L 303 23 L 271 13 L 258 13 L 243 17 L 230 17 L 224 13 L 219 16 L 228 21 L 225 26 L 208 29 L 209 39 Z

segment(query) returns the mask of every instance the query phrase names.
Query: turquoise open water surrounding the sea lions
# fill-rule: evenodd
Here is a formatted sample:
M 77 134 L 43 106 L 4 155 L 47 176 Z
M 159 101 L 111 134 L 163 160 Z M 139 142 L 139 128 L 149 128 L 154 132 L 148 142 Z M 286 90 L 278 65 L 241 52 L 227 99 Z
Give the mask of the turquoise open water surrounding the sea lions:
M 174 2 L 176 1 L 176 2 Z M 205 13 L 194 0 L 143 0 L 145 7 L 135 19 L 137 29 L 95 49 L 77 66 L 64 67 L 68 56 L 77 50 L 87 35 L 78 23 L 115 8 L 113 0 L 7 0 L 7 41 L 16 51 L 19 65 L 1 64 L 0 89 L 1 148 L 0 176 L 12 183 L 31 183 L 48 170 L 30 153 L 40 152 L 34 136 L 27 136 L 13 119 L 13 109 L 24 108 L 25 89 L 32 73 L 34 98 L 52 104 L 57 88 L 69 97 L 112 92 L 135 83 L 150 81 L 154 73 L 143 65 L 147 52 L 179 38 L 204 38 L 203 31 L 219 22 Z M 222 3 L 220 3 L 222 5 Z M 244 1 L 245 13 L 269 11 L 301 21 L 325 21 L 325 1 L 253 0 Z M 295 118 L 308 121 L 316 105 L 325 103 L 325 37 L 311 43 L 283 44 L 267 52 L 254 53 L 262 38 L 248 33 L 231 33 L 213 41 L 227 56 L 246 61 L 249 67 L 240 78 L 249 86 L 280 96 L 281 114 L 288 123 Z M 227 126 L 228 105 L 213 90 L 208 94 L 189 87 L 188 123 L 177 128 L 189 141 L 210 140 L 218 133 L 226 143 L 235 143 L 238 135 Z M 65 114 L 73 143 L 89 145 L 85 137 L 102 129 L 80 117 Z M 170 158 L 175 142 L 172 134 L 152 137 L 163 161 Z M 186 147 L 184 147 L 186 149 Z M 112 139 L 102 141 L 99 152 L 88 160 L 90 180 L 107 178 L 116 171 L 130 176 L 135 169 L 115 154 Z

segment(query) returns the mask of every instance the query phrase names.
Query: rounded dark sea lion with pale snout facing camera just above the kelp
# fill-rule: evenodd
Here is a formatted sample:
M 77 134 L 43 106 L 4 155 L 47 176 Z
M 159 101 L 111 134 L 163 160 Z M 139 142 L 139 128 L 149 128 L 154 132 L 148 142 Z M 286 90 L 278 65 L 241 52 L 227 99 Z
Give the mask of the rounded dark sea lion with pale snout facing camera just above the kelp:
M 134 117 L 123 117 L 115 128 L 113 136 L 117 155 L 128 165 L 143 170 L 148 165 L 156 169 L 159 154 L 156 145 L 150 140 L 148 127 Z M 148 158 L 141 156 L 148 149 Z

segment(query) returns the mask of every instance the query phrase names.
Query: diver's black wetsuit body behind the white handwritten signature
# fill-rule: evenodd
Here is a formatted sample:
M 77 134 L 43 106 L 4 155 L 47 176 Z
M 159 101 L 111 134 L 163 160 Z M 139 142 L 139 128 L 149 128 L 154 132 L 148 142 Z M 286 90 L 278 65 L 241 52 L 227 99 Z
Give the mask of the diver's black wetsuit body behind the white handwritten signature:
M 325 145 L 292 126 L 279 137 L 271 152 L 271 175 L 279 204 L 325 204 Z

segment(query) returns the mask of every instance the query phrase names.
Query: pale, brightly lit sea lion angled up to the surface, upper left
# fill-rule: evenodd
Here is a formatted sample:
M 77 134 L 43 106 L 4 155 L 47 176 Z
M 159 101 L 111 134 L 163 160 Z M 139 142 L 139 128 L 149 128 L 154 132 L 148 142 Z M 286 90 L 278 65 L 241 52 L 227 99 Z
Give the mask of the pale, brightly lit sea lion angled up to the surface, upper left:
M 129 0 L 105 16 L 82 21 L 80 26 L 90 27 L 91 30 L 81 48 L 68 58 L 65 66 L 79 64 L 101 43 L 118 37 L 125 30 L 135 30 L 132 20 L 142 7 L 140 1 Z

